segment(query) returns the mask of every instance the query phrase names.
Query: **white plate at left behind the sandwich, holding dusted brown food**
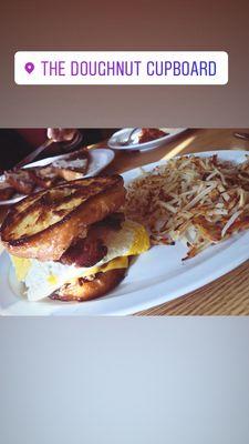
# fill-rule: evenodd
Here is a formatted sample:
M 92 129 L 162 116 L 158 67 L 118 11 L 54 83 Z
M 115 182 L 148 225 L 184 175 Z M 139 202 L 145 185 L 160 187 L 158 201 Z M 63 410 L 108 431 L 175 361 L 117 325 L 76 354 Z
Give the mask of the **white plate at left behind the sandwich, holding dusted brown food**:
M 51 162 L 54 162 L 59 159 L 64 159 L 68 154 L 55 155 L 53 158 L 46 158 L 42 160 L 38 160 L 37 162 L 32 162 L 27 164 L 23 168 L 31 168 L 31 167 L 45 167 Z M 90 163 L 87 174 L 84 175 L 85 178 L 91 178 L 98 174 L 105 167 L 107 167 L 114 159 L 115 153 L 112 150 L 106 148 L 97 148 L 95 150 L 90 150 Z M 0 181 L 3 180 L 3 175 L 0 176 Z M 0 201 L 0 205 L 11 205 L 15 202 L 21 201 L 25 195 L 23 194 L 15 194 L 14 198 L 9 199 L 8 201 Z

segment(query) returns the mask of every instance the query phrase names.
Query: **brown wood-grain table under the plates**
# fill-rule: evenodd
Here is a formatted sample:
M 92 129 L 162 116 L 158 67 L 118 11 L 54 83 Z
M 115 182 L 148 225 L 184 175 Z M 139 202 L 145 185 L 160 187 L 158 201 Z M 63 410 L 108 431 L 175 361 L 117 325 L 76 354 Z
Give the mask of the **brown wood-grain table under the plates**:
M 175 141 L 147 152 L 116 152 L 105 172 L 122 173 L 177 154 L 211 150 L 248 150 L 249 141 L 236 139 L 236 129 L 189 130 Z M 242 130 L 239 131 L 247 131 Z M 98 144 L 103 147 L 103 143 Z M 4 210 L 0 210 L 3 218 Z M 137 315 L 249 315 L 249 261 L 204 287 Z

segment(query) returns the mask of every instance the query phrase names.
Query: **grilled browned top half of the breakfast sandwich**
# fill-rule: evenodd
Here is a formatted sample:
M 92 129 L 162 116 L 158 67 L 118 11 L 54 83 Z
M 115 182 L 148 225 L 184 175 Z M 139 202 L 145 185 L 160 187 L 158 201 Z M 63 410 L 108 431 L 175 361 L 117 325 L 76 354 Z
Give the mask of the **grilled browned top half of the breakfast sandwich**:
M 34 193 L 12 206 L 1 226 L 6 249 L 20 258 L 60 260 L 87 226 L 125 201 L 120 175 L 81 179 Z

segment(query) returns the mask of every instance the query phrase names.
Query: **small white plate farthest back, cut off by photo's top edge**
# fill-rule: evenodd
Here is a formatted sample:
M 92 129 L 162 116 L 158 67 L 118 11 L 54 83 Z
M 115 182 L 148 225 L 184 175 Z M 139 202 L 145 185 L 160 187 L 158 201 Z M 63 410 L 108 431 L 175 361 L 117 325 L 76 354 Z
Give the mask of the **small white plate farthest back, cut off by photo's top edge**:
M 162 131 L 167 132 L 168 134 L 164 138 L 155 139 L 149 142 L 138 143 L 138 133 L 141 128 L 134 132 L 132 135 L 132 143 L 125 147 L 122 147 L 121 143 L 128 139 L 128 135 L 133 131 L 133 128 L 124 128 L 115 132 L 112 138 L 108 140 L 108 147 L 113 150 L 136 150 L 136 151 L 144 151 L 144 150 L 152 150 L 154 148 L 158 148 L 166 142 L 170 141 L 173 138 L 181 134 L 181 132 L 186 131 L 187 128 L 159 128 Z

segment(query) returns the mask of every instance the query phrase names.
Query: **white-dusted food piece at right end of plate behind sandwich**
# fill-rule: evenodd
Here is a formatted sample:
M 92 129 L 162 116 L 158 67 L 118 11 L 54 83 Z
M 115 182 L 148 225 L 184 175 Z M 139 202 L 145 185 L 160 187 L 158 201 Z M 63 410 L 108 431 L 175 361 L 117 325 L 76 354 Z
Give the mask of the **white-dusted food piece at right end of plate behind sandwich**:
M 89 168 L 89 151 L 81 149 L 54 161 L 52 165 L 56 173 L 66 181 L 82 179 Z

